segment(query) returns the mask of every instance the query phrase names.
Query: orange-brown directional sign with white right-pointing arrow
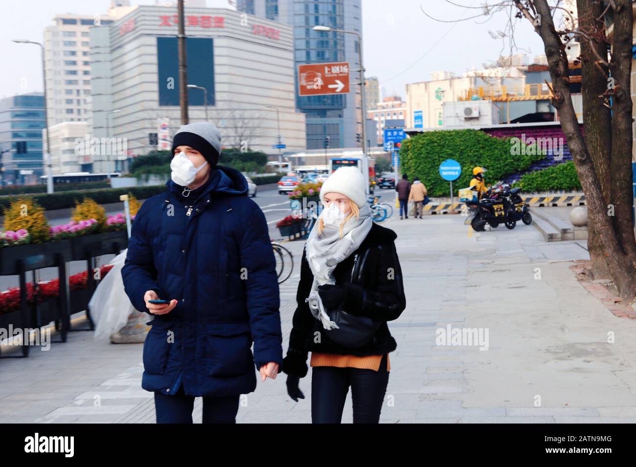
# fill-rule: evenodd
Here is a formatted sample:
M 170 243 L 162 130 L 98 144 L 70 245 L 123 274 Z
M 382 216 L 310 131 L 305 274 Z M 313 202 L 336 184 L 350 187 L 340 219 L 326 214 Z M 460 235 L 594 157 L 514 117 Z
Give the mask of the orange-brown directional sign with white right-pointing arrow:
M 298 65 L 298 94 L 345 94 L 349 92 L 349 63 Z

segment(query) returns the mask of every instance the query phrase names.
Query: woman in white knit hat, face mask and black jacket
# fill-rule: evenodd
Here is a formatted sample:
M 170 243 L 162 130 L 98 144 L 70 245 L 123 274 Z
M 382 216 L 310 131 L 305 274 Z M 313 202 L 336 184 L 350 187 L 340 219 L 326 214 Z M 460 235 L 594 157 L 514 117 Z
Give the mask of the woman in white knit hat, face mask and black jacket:
M 300 283 L 289 349 L 283 361 L 287 392 L 304 398 L 299 380 L 312 352 L 312 423 L 340 423 L 349 386 L 354 423 L 378 423 L 389 382 L 389 353 L 396 341 L 387 321 L 406 307 L 396 234 L 373 223 L 363 175 L 340 168 L 324 183 L 325 209 L 310 233 L 301 260 Z M 343 346 L 329 337 L 325 311 L 341 309 L 378 325 L 363 346 Z M 336 339 L 337 340 L 337 339 Z

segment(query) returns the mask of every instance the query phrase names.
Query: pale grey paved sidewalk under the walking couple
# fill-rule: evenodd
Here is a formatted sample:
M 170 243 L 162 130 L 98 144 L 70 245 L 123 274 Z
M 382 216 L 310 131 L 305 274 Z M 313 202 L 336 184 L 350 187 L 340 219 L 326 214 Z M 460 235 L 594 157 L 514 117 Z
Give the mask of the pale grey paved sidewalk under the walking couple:
M 398 235 L 407 308 L 389 323 L 397 350 L 381 423 L 636 422 L 636 323 L 613 316 L 577 283 L 570 260 L 588 258 L 584 242 L 546 243 L 523 225 L 474 233 L 463 221 L 384 222 Z M 300 262 L 302 242 L 285 245 Z M 285 347 L 298 262 L 281 288 Z M 488 330 L 487 349 L 437 345 L 436 332 L 448 325 Z M 154 423 L 141 357 L 141 344 L 74 332 L 50 351 L 0 360 L 0 423 Z M 310 381 L 311 372 L 298 403 L 284 375 L 259 382 L 237 421 L 310 423 Z M 349 395 L 343 423 L 351 421 Z

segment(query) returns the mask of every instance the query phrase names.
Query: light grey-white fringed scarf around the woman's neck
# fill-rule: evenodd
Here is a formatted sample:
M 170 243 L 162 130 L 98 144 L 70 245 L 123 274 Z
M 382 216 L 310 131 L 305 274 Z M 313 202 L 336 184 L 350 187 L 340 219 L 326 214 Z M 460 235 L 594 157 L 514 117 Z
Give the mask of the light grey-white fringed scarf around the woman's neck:
M 329 330 L 338 328 L 334 321 L 324 311 L 322 300 L 318 294 L 318 286 L 335 284 L 333 271 L 343 260 L 347 259 L 357 248 L 373 226 L 373 217 L 369 205 L 360 208 L 359 216 L 351 217 L 342 227 L 343 237 L 340 238 L 340 226 L 325 226 L 322 235 L 318 235 L 318 228 L 314 227 L 305 243 L 305 254 L 309 267 L 314 274 L 314 282 L 310 294 L 305 300 L 312 315 L 320 320 L 322 327 Z

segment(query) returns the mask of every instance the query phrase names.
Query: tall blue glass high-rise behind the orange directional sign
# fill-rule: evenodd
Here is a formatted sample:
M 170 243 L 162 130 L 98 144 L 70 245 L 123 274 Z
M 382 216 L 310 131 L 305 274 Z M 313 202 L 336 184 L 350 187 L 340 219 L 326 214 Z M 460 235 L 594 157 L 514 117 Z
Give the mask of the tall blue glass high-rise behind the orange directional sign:
M 360 68 L 356 36 L 312 28 L 323 25 L 362 36 L 361 8 L 361 0 L 237 0 L 239 11 L 293 26 L 296 74 L 299 64 L 349 62 L 350 70 Z M 322 149 L 326 137 L 333 148 L 360 146 L 361 92 L 357 72 L 350 73 L 347 95 L 296 96 L 296 107 L 307 115 L 307 149 Z

